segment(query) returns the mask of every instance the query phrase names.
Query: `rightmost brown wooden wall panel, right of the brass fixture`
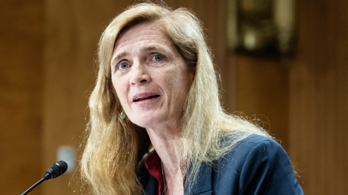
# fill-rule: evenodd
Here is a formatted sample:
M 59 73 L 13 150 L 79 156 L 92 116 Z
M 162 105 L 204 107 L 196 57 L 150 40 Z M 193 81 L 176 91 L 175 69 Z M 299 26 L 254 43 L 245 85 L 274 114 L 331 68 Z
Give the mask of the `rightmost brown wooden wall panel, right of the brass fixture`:
M 290 156 L 307 195 L 348 194 L 348 2 L 298 1 Z

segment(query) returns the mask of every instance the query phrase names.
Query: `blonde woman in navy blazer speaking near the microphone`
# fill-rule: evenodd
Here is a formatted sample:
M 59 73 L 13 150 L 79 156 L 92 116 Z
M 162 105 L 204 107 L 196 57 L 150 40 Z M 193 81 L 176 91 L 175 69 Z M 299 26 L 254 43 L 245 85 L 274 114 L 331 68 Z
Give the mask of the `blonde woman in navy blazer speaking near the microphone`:
M 81 159 L 93 194 L 303 193 L 282 147 L 221 108 L 201 23 L 187 9 L 129 7 L 102 34 L 98 57 Z

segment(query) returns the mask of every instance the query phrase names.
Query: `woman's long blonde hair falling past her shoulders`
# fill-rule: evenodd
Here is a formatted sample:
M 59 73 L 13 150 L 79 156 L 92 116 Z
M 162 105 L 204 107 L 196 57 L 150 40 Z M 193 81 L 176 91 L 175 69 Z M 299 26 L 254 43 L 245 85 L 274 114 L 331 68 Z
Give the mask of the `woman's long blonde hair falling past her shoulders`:
M 181 119 L 181 169 L 188 190 L 196 181 L 202 162 L 212 164 L 251 134 L 270 137 L 261 127 L 222 109 L 212 55 L 200 20 L 188 9 L 139 3 L 112 20 L 98 45 L 99 71 L 89 99 L 89 137 L 80 162 L 82 179 L 95 195 L 143 192 L 136 166 L 148 152 L 150 142 L 144 129 L 127 117 L 119 118 L 122 110 L 111 83 L 110 62 L 117 36 L 144 22 L 159 24 L 188 68 L 195 71 Z M 228 139 L 222 141 L 225 137 Z M 188 165 L 191 174 L 185 175 Z

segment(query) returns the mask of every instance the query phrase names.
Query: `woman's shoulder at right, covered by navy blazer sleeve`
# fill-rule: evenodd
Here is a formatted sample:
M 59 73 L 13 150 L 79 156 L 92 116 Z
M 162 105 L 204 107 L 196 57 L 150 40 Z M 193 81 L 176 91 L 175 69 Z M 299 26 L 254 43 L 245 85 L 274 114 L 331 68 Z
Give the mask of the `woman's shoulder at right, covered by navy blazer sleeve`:
M 234 187 L 230 190 L 237 188 L 242 194 L 278 194 L 284 190 L 289 194 L 303 193 L 283 147 L 261 135 L 240 141 L 219 159 L 214 170 L 217 190 L 232 182 Z

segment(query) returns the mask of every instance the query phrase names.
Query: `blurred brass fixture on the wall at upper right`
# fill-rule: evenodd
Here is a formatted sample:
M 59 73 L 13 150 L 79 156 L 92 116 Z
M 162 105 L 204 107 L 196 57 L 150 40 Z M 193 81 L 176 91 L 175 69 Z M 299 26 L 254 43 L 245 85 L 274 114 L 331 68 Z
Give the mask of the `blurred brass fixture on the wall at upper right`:
M 294 0 L 228 0 L 229 50 L 289 56 L 294 33 Z

